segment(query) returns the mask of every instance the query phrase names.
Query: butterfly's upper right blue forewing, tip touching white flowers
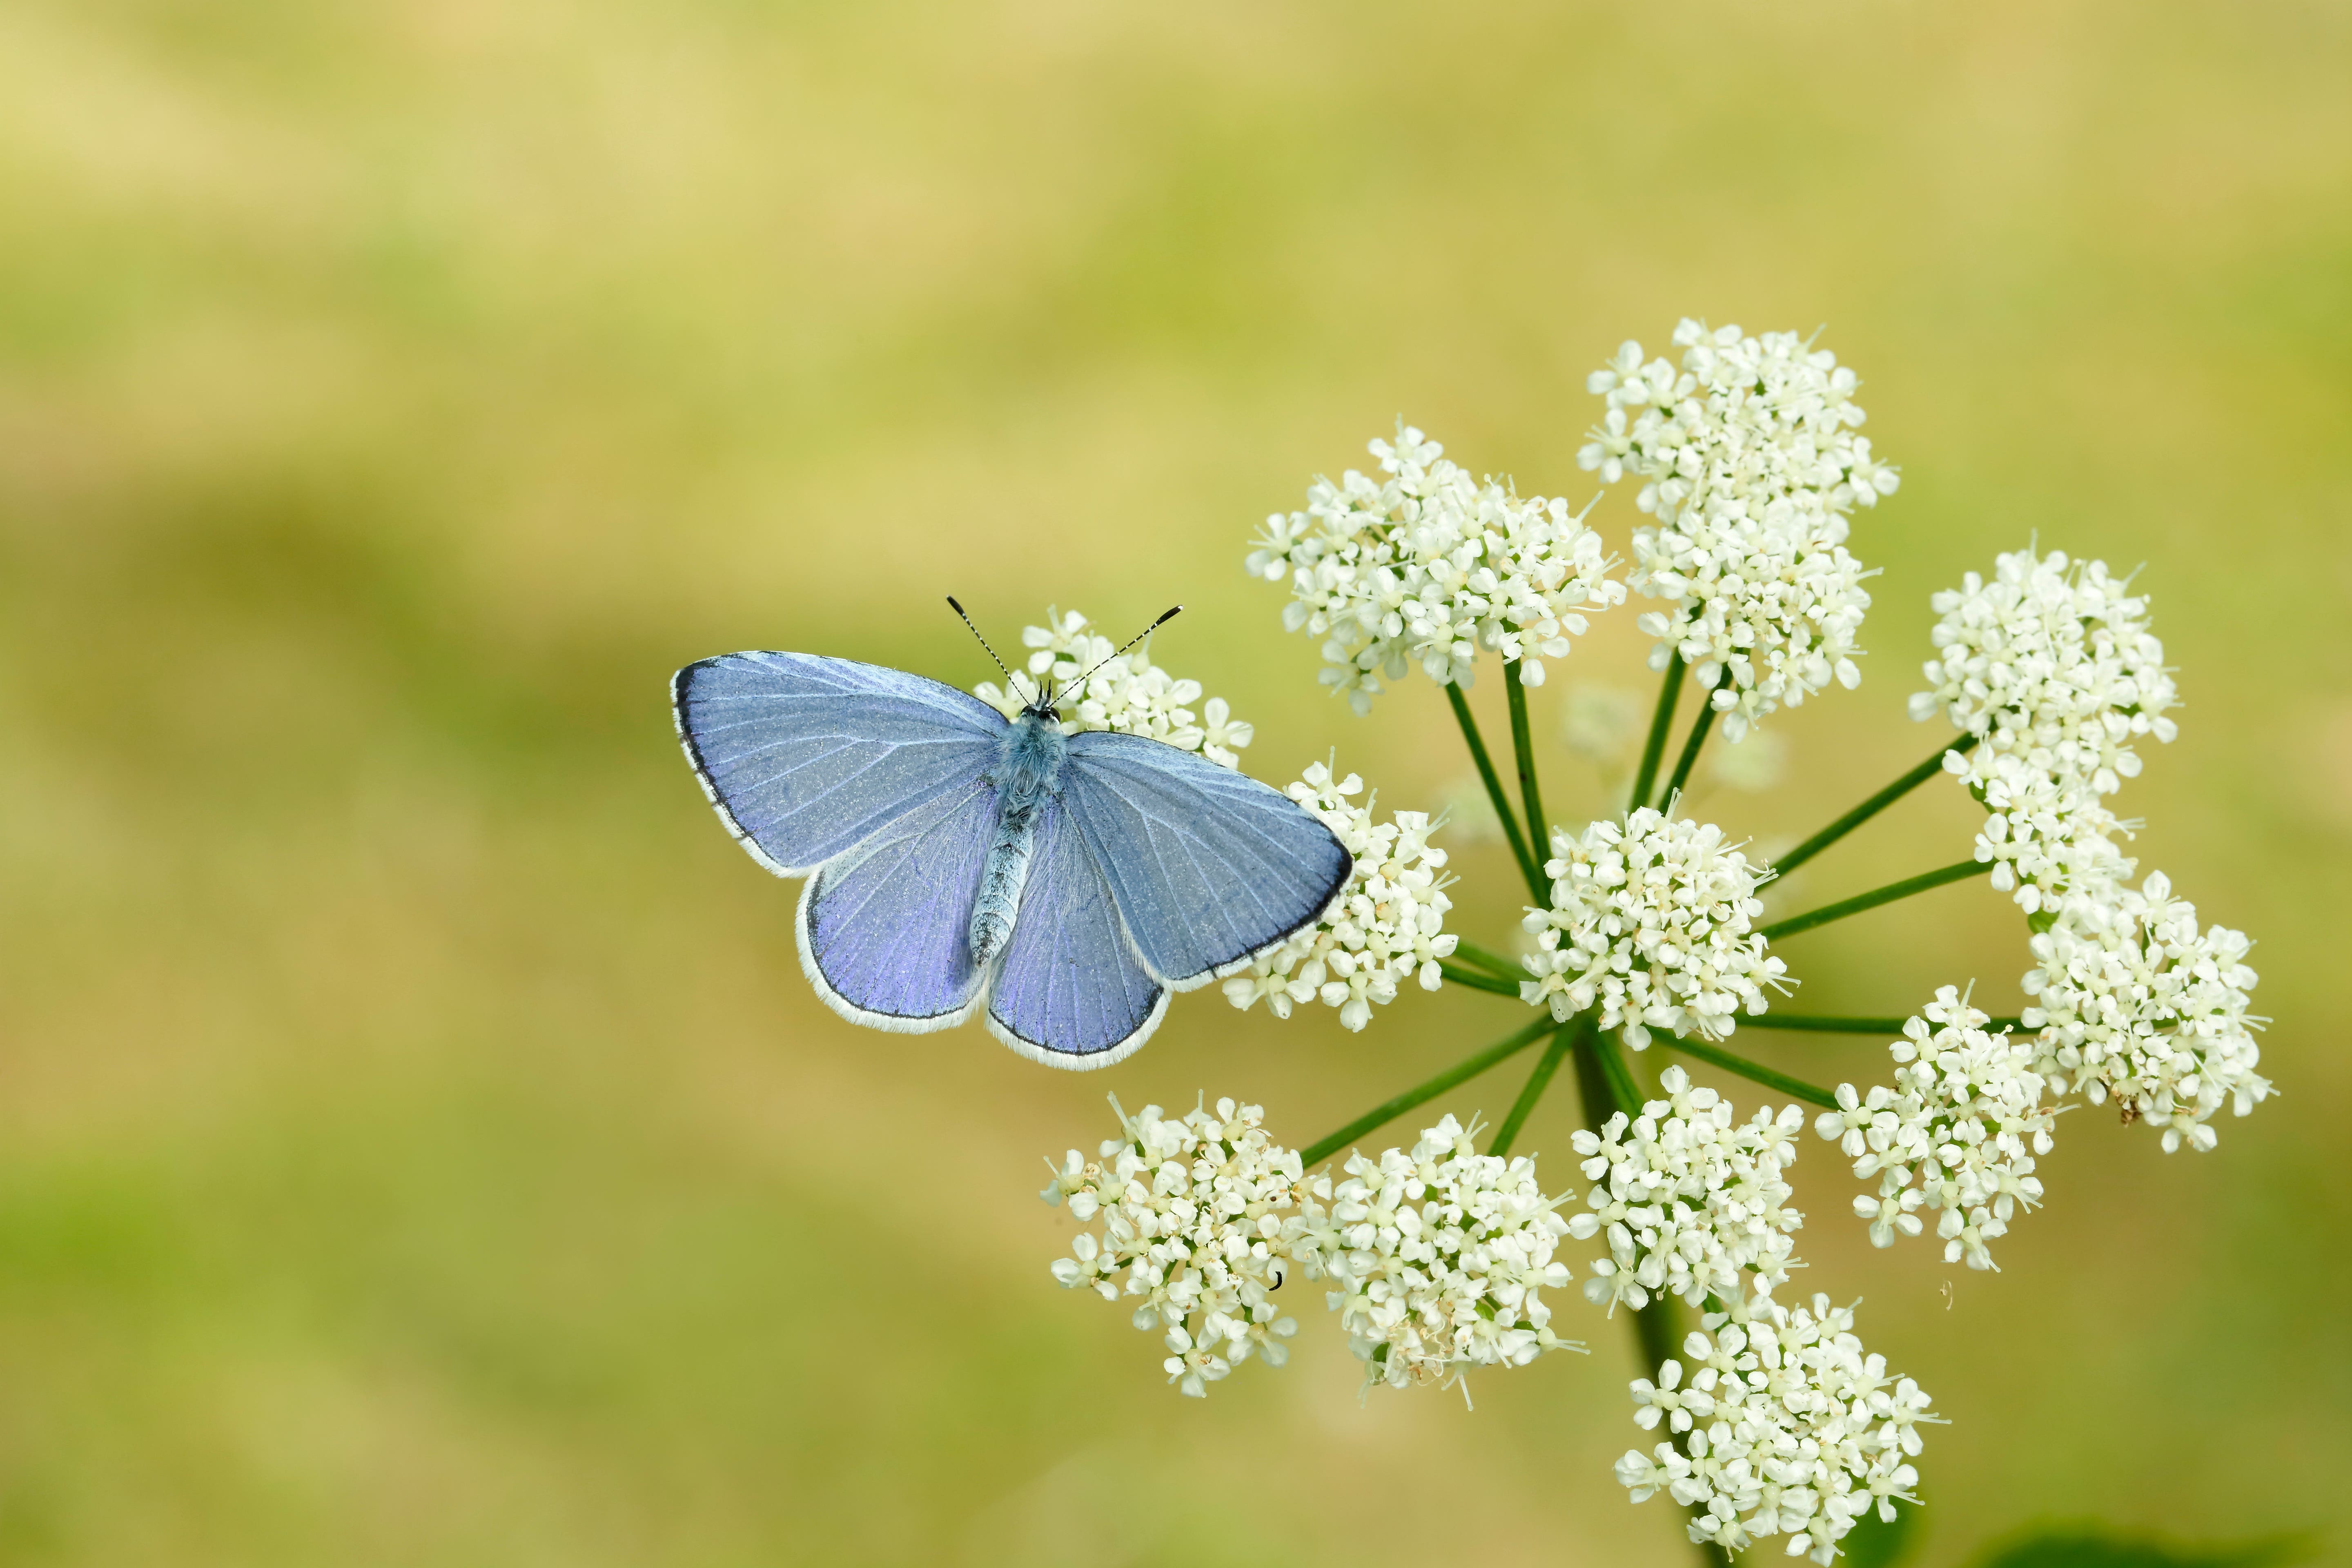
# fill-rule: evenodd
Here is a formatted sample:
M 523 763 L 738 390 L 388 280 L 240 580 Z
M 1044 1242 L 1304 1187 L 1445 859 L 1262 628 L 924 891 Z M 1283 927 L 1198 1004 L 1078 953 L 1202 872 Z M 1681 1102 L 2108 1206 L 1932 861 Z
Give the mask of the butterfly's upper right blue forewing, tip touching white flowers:
M 1322 914 L 1355 867 L 1305 806 L 1164 741 L 1070 736 L 1061 802 L 1171 990 L 1242 969 Z

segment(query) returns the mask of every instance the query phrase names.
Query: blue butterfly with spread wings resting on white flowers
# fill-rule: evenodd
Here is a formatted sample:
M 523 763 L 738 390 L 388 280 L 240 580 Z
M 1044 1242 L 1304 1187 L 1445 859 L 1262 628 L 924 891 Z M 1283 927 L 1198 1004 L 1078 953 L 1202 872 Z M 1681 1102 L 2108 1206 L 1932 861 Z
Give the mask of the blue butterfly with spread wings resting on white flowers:
M 670 703 L 727 832 L 809 879 L 797 933 L 816 994 L 875 1030 L 985 1009 L 1033 1063 L 1108 1067 L 1150 1039 L 1169 992 L 1312 924 L 1355 867 L 1254 778 L 1164 741 L 1063 736 L 1047 689 L 1007 719 L 901 670 L 727 654 L 680 670 Z

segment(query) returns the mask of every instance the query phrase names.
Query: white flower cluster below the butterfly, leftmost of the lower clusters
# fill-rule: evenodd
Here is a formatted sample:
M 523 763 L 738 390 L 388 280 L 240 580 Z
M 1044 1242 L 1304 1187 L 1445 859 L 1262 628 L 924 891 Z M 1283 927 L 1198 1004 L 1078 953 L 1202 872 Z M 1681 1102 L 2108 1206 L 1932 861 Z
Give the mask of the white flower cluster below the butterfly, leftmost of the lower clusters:
M 1167 1331 L 1162 1366 L 1185 1394 L 1207 1394 L 1251 1354 L 1282 1366 L 1282 1340 L 1298 1331 L 1270 1298 L 1289 1267 L 1298 1154 L 1265 1135 L 1263 1117 L 1232 1100 L 1178 1121 L 1157 1105 L 1120 1112 L 1122 1135 L 1091 1161 L 1070 1150 L 1040 1194 L 1068 1201 L 1080 1225 L 1103 1222 L 1101 1237 L 1077 1234 L 1054 1279 L 1134 1298 L 1136 1328 Z

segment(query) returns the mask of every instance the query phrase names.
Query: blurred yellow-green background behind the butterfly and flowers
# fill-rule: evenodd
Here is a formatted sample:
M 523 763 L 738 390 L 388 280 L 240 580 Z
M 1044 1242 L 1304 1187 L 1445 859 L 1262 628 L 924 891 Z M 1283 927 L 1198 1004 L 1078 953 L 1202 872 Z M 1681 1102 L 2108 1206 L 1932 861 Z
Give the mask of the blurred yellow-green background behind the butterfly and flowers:
M 2187 708 L 2122 802 L 2260 943 L 2281 1098 L 2204 1157 L 2070 1117 L 2002 1274 L 1872 1253 L 1809 1140 L 1799 1284 L 1952 1418 L 1924 1561 L 2352 1561 L 2347 80 L 2340 2 L 9 0 L 0 1563 L 1689 1561 L 1573 1298 L 1595 1354 L 1468 1413 L 1359 1403 L 1315 1300 L 1183 1401 L 1047 1279 L 1105 1091 L 1305 1143 L 1512 1009 L 1209 992 L 1108 1074 L 854 1030 L 663 705 L 741 646 L 971 684 L 943 592 L 1000 642 L 1181 599 L 1249 771 L 1437 804 L 1437 693 L 1327 701 L 1249 534 L 1399 414 L 1581 503 L 1585 371 L 1684 313 L 1828 322 L 1903 465 L 1863 689 L 1708 811 L 1788 842 L 1926 755 L 1926 597 L 2039 536 L 2145 562 Z M 1552 668 L 1564 818 L 1559 703 L 1642 651 Z M 1788 898 L 1971 823 L 1926 790 Z M 1505 940 L 1501 851 L 1456 870 Z M 1978 884 L 1788 957 L 1860 1011 L 2025 969 Z

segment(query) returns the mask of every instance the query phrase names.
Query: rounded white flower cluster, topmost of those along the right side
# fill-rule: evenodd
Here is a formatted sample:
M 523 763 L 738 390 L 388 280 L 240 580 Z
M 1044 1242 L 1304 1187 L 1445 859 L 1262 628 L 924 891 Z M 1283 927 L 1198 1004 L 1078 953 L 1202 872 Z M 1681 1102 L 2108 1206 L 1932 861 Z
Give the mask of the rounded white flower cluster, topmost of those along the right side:
M 2124 588 L 2105 562 L 2070 562 L 2063 550 L 2002 555 L 1990 583 L 1971 571 L 1933 597 L 1943 621 L 1912 717 L 1943 712 L 1980 736 L 1976 759 L 2025 757 L 2114 795 L 2140 771 L 2143 736 L 2178 733 L 2164 717 L 2178 691 L 2147 630 L 2147 599 Z

